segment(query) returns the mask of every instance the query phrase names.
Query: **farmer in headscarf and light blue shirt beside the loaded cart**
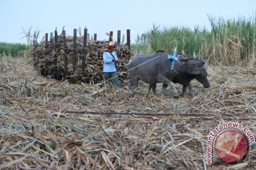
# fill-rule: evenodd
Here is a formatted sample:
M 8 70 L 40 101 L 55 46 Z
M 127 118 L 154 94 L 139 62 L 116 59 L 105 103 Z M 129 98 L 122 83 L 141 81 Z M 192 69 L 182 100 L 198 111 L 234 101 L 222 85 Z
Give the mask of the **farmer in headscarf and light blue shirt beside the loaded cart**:
M 114 51 L 115 47 L 115 43 L 109 42 L 108 48 L 103 51 L 103 77 L 106 82 L 111 80 L 116 86 L 116 89 L 120 89 L 121 87 L 118 82 L 118 75 L 115 66 L 115 63 L 118 63 L 119 60 L 116 56 L 116 52 Z

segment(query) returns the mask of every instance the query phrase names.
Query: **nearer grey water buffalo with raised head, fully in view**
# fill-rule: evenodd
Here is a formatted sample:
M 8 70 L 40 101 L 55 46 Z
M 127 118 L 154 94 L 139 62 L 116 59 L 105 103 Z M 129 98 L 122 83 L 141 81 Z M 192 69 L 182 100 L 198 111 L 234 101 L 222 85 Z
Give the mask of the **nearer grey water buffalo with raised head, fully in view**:
M 179 56 L 179 60 L 175 61 L 173 66 L 172 60 L 168 59 L 169 56 L 162 52 L 153 55 L 137 55 L 127 64 L 131 77 L 128 87 L 138 86 L 139 80 L 148 84 L 164 83 L 172 87 L 174 97 L 178 98 L 179 95 L 172 79 L 185 70 L 203 67 L 204 61 L 190 55 L 175 56 Z M 165 95 L 167 86 L 162 88 L 162 97 Z

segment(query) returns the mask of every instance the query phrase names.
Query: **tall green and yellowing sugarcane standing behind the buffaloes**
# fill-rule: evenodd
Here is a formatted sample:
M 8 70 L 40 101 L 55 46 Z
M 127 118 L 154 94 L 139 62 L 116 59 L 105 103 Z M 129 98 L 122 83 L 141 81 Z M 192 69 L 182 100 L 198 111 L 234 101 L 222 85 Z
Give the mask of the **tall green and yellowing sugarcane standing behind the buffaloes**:
M 211 30 L 205 27 L 163 28 L 153 25 L 153 29 L 138 35 L 131 48 L 133 53 L 153 54 L 158 49 L 172 54 L 174 47 L 178 53 L 192 55 L 215 65 L 239 65 L 255 67 L 256 12 L 250 18 L 224 19 L 208 15 Z

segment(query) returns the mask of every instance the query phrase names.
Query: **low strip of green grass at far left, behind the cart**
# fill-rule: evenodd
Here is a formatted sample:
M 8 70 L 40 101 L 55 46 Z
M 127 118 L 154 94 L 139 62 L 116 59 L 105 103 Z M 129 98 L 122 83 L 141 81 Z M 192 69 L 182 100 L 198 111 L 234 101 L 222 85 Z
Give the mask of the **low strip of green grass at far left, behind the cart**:
M 0 55 L 6 54 L 13 57 L 19 56 L 20 51 L 27 50 L 25 44 L 0 42 Z

